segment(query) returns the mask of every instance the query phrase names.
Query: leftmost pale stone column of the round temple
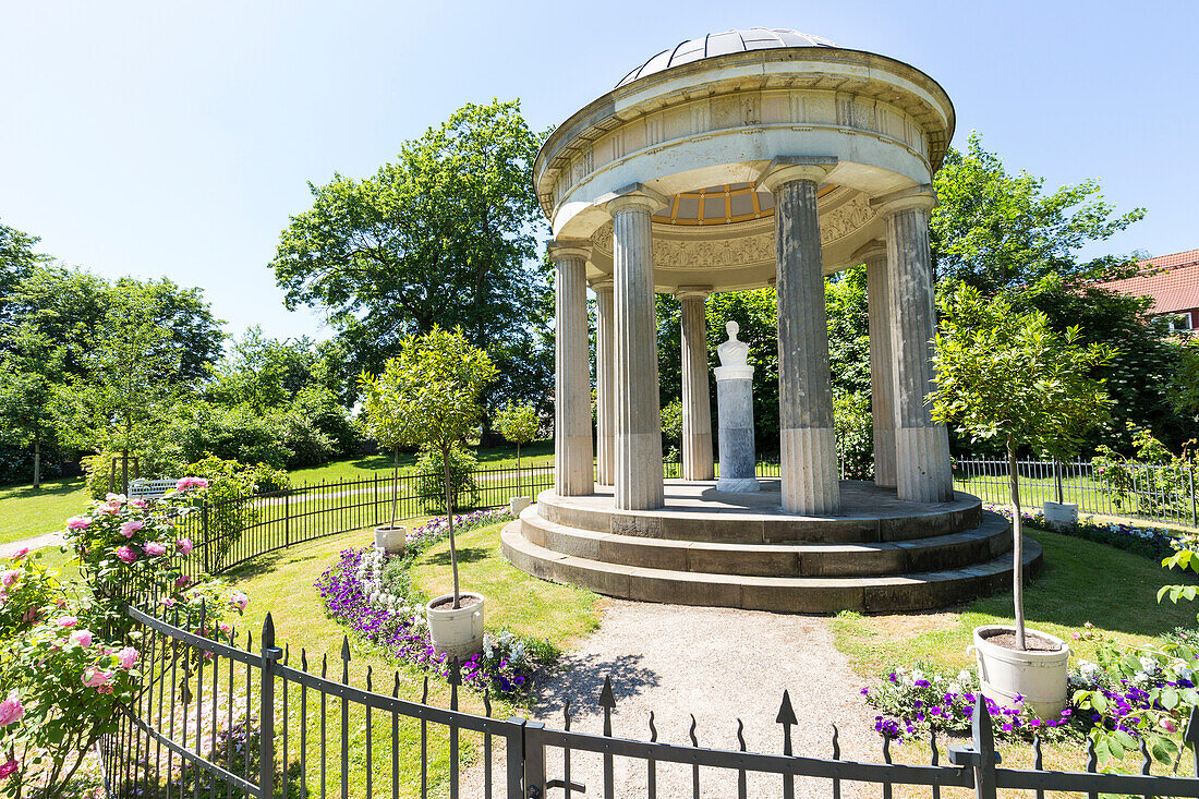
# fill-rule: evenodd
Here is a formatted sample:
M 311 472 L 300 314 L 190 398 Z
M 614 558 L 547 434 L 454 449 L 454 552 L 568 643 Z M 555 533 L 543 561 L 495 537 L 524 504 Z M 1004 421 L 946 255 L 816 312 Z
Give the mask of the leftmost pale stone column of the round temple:
M 586 248 L 550 242 L 556 269 L 554 346 L 554 492 L 595 492 L 591 471 L 591 358 L 588 353 Z

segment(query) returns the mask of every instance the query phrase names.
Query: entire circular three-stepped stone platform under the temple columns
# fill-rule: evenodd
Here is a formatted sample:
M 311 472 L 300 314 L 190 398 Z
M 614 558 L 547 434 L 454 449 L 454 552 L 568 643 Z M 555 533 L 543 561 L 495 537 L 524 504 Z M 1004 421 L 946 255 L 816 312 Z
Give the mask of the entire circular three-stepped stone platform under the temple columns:
M 845 480 L 839 515 L 796 516 L 783 512 L 778 480 L 763 483 L 735 494 L 668 480 L 665 506 L 649 511 L 616 510 L 608 486 L 548 491 L 504 529 L 504 553 L 610 596 L 803 613 L 928 609 L 1011 583 L 1011 525 L 977 497 L 909 503 Z M 1028 541 L 1024 555 L 1035 573 L 1040 546 Z

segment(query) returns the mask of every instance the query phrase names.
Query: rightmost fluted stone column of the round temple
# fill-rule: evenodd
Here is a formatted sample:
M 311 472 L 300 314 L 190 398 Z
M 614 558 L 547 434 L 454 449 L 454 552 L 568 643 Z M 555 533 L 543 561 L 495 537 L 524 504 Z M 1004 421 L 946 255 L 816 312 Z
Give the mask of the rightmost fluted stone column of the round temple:
M 930 186 L 904 190 L 873 203 L 887 220 L 887 294 L 896 419 L 896 492 L 899 499 L 953 499 L 950 434 L 933 422 L 927 397 L 933 384 L 933 262 L 928 211 Z

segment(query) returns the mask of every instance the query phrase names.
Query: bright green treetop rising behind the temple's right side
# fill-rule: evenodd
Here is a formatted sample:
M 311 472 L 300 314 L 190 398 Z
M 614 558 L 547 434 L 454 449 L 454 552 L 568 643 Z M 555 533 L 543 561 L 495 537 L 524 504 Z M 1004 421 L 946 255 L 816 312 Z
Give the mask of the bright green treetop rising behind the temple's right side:
M 1079 251 L 1145 216 L 1145 209 L 1115 215 L 1098 180 L 1046 193 L 1043 178 L 1008 174 L 977 132 L 965 152 L 950 149 L 934 187 L 939 204 L 929 215 L 929 238 L 936 277 L 988 295 L 1048 276 L 1079 282 L 1131 266 L 1127 257 L 1081 259 Z

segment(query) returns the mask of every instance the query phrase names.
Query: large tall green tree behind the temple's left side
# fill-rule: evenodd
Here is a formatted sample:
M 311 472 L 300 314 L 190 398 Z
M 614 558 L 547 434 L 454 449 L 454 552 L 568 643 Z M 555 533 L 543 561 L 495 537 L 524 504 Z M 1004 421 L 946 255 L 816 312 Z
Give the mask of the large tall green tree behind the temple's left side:
M 359 370 L 378 372 L 434 326 L 460 326 L 519 366 L 544 349 L 546 222 L 531 180 L 542 139 L 519 101 L 466 104 L 375 175 L 311 185 L 312 208 L 291 217 L 271 262 L 288 307 L 326 310 Z

